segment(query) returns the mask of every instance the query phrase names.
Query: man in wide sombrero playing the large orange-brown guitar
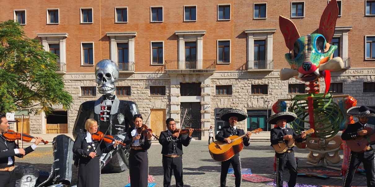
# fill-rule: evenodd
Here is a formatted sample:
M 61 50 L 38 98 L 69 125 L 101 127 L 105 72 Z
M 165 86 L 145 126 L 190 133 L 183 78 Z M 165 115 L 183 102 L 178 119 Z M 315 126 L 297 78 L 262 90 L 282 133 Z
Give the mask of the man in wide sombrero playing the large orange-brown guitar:
M 219 133 L 216 135 L 216 140 L 223 141 L 223 142 L 231 142 L 231 139 L 228 137 L 232 135 L 241 136 L 245 134 L 240 128 L 237 128 L 237 122 L 243 121 L 248 117 L 248 115 L 242 111 L 237 109 L 229 109 L 223 111 L 220 114 L 220 119 L 226 122 L 229 122 L 229 128 L 223 128 Z M 246 136 L 243 137 L 243 145 L 249 146 L 250 145 L 250 136 L 251 133 L 247 132 Z M 229 165 L 233 166 L 234 176 L 236 177 L 236 187 L 241 186 L 242 174 L 241 174 L 241 159 L 240 153 L 235 154 L 228 160 L 221 162 L 221 172 L 220 172 L 220 187 L 225 187 L 226 184 L 226 174 L 228 173 Z

